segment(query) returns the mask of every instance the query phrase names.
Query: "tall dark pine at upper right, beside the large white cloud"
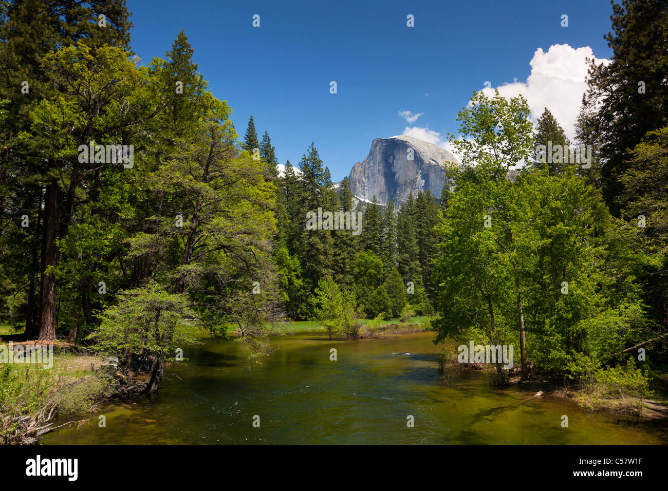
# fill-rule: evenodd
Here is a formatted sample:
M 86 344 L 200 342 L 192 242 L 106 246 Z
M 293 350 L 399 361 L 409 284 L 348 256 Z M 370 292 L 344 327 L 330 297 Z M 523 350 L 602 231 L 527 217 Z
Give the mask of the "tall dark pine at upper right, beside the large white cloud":
M 668 124 L 668 2 L 623 0 L 613 3 L 613 31 L 605 35 L 613 49 L 611 63 L 589 70 L 590 101 L 600 102 L 596 126 L 603 138 L 603 194 L 613 214 L 629 150 L 643 137 Z

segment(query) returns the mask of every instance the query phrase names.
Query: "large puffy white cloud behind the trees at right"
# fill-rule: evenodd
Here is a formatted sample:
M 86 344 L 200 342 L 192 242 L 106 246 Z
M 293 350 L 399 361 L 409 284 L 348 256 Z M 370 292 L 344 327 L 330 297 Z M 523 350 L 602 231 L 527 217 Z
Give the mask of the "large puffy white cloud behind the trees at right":
M 572 141 L 582 94 L 587 91 L 587 58 L 592 57 L 594 54 L 589 46 L 572 48 L 568 44 L 554 44 L 547 52 L 539 47 L 529 63 L 531 74 L 526 82 L 515 79 L 497 89 L 506 98 L 522 94 L 528 101 L 534 122 L 548 108 Z M 610 61 L 596 58 L 596 63 L 601 62 Z M 482 92 L 486 96 L 494 95 L 493 88 L 484 88 Z

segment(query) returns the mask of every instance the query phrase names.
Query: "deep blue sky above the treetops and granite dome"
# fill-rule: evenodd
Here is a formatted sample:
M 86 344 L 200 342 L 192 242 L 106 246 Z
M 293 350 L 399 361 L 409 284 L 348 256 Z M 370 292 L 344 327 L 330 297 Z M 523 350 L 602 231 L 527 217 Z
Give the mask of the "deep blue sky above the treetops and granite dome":
M 132 49 L 144 63 L 164 57 L 184 29 L 238 134 L 252 114 L 279 162 L 295 166 L 313 141 L 335 181 L 367 156 L 373 138 L 406 132 L 447 148 L 457 112 L 485 81 L 510 84 L 508 95 L 531 94 L 532 111 L 548 105 L 567 128 L 583 87 L 582 67 L 573 65 L 587 53 L 575 49 L 612 54 L 603 39 L 611 5 L 603 0 L 127 3 Z M 409 14 L 415 27 L 406 25 Z M 568 27 L 560 25 L 563 14 Z M 562 47 L 548 51 L 552 45 Z M 422 116 L 409 123 L 403 111 Z

